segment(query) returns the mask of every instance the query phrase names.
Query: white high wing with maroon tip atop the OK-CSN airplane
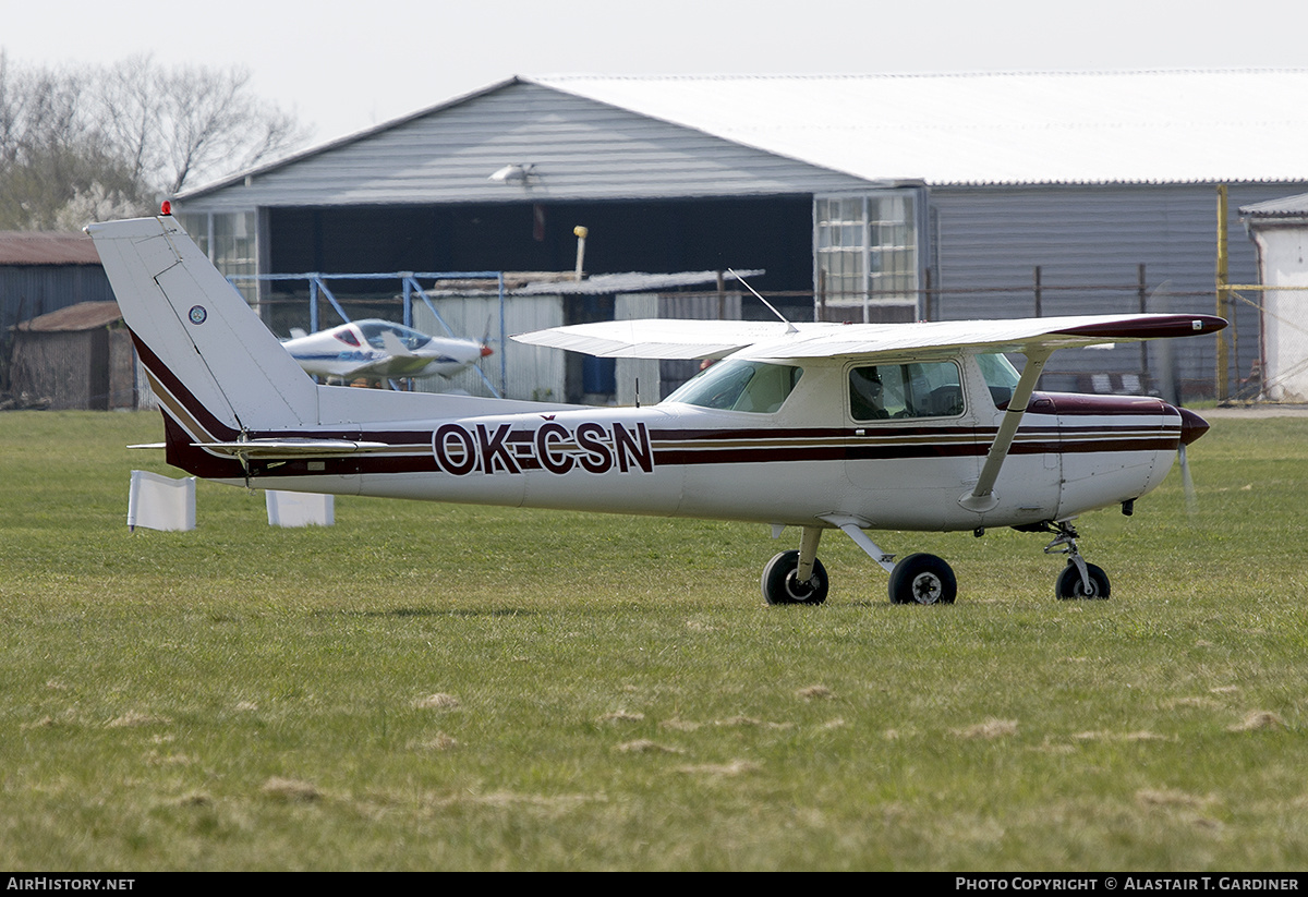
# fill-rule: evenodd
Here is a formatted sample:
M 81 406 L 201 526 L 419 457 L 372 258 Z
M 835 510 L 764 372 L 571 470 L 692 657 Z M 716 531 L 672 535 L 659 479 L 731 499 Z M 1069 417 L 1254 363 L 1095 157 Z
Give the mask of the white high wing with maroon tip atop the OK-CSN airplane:
M 1202 336 L 1226 327 L 1213 315 L 1071 315 L 913 324 L 835 324 L 751 320 L 613 320 L 522 333 L 528 345 L 606 358 L 838 358 L 914 350 L 1053 352 L 1054 349 Z

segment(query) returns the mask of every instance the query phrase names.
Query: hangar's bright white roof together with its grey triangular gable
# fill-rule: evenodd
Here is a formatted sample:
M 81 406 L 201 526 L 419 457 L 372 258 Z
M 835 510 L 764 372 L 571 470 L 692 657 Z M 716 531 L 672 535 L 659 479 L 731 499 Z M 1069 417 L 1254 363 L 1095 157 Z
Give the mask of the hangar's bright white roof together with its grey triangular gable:
M 1308 182 L 1308 69 L 510 77 L 188 190 L 259 205 Z M 521 192 L 521 191 L 519 191 Z M 513 194 L 517 196 L 517 194 Z

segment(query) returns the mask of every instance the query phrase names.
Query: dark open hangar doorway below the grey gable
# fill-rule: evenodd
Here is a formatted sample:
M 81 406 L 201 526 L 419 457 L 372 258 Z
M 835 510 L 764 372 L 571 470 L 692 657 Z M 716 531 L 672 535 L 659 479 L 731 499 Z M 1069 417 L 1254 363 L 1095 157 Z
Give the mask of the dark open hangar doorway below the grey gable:
M 811 315 L 811 196 L 460 203 L 268 209 L 269 267 L 317 271 L 572 271 L 587 229 L 587 273 L 761 268 L 756 286 L 795 292 Z

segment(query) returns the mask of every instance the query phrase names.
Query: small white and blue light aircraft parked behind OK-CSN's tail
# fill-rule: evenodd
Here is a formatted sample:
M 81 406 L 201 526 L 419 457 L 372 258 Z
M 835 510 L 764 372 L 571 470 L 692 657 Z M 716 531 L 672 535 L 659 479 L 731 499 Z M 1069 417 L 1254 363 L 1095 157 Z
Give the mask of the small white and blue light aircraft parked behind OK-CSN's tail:
M 388 320 L 356 320 L 317 333 L 292 331 L 281 345 L 307 373 L 328 381 L 454 377 L 492 354 L 487 340 L 428 336 Z

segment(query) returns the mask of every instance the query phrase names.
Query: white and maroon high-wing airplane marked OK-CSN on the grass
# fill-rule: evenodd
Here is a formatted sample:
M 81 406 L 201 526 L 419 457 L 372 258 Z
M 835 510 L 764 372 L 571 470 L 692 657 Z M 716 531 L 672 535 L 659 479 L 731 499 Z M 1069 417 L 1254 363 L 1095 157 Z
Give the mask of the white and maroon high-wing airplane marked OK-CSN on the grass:
M 1048 532 L 1059 598 L 1108 598 L 1074 519 L 1158 486 L 1207 424 L 1159 399 L 1035 392 L 1063 347 L 1214 333 L 1207 315 L 917 324 L 610 322 L 515 337 L 611 357 L 717 358 L 659 404 L 595 408 L 314 383 L 169 216 L 88 228 L 164 411 L 166 458 L 263 489 L 768 524 L 799 548 L 772 604 L 820 604 L 821 536 L 954 601 L 950 566 L 869 531 Z M 1005 353 L 1025 357 L 1019 374 Z

